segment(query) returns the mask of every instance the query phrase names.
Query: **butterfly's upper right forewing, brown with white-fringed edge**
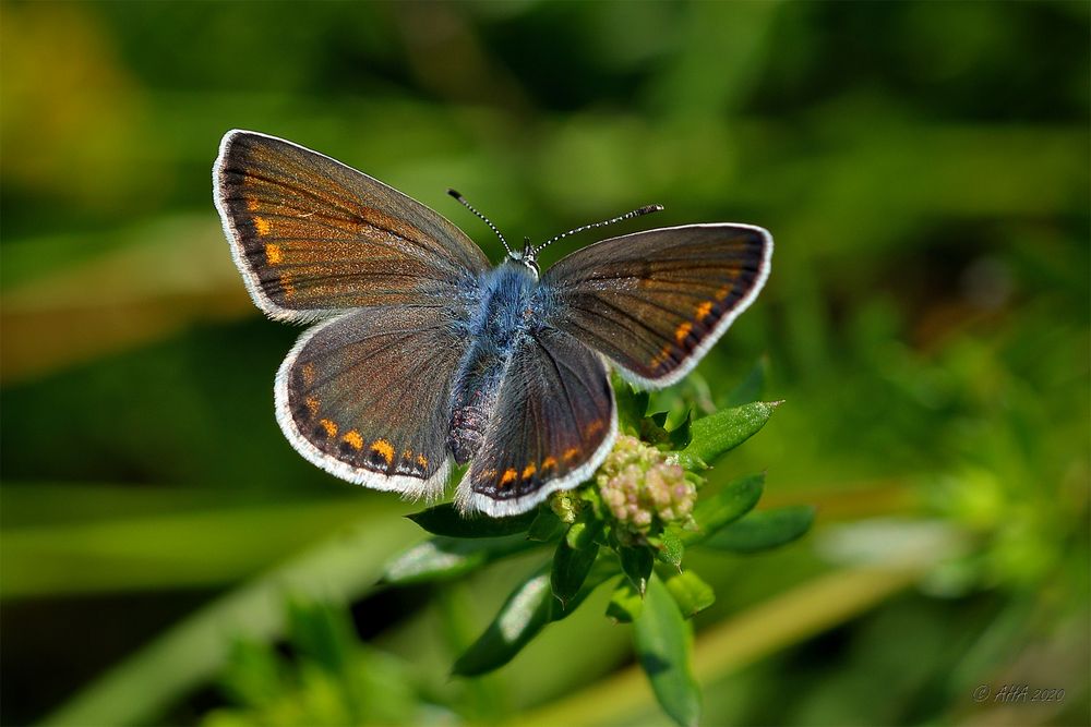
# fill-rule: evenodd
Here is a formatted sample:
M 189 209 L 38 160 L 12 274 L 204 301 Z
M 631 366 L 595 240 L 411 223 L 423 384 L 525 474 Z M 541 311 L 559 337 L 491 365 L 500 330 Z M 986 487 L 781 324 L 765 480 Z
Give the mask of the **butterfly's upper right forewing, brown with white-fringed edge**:
M 757 298 L 772 237 L 746 225 L 687 225 L 603 240 L 542 276 L 553 323 L 648 388 L 685 376 Z

